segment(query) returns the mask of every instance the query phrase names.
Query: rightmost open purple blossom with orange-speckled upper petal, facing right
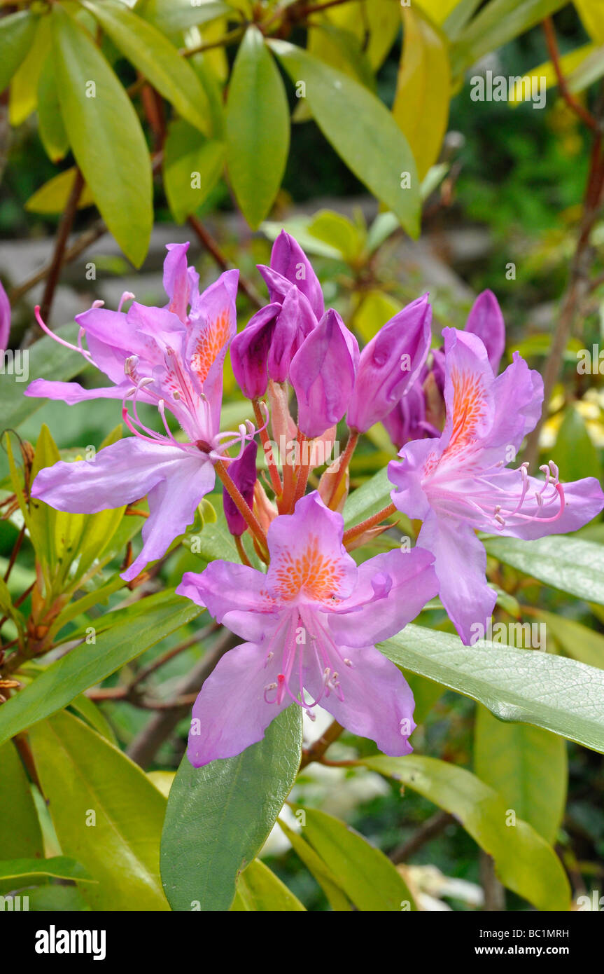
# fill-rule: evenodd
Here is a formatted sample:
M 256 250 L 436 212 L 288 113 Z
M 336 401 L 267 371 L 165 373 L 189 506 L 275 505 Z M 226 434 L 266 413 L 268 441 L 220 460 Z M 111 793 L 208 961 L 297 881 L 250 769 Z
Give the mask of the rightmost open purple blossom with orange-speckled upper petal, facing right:
M 417 544 L 434 554 L 444 608 L 468 644 L 496 601 L 475 532 L 534 539 L 575 531 L 602 510 L 604 495 L 594 477 L 562 485 L 552 462 L 543 480 L 525 464 L 508 469 L 537 424 L 543 380 L 517 352 L 495 378 L 480 338 L 455 328 L 443 335 L 444 432 L 409 443 L 388 476 L 394 505 L 423 521 Z

